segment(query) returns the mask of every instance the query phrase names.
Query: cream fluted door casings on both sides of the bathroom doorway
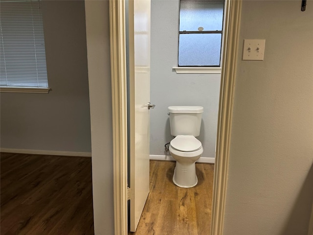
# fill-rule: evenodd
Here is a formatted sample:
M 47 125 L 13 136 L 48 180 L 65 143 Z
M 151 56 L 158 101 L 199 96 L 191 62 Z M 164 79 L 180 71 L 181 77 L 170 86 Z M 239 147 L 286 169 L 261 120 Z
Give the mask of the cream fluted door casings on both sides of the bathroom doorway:
M 222 235 L 242 0 L 225 0 L 211 235 Z M 125 0 L 110 0 L 114 234 L 127 235 L 127 93 Z M 225 56 L 227 54 L 227 56 Z

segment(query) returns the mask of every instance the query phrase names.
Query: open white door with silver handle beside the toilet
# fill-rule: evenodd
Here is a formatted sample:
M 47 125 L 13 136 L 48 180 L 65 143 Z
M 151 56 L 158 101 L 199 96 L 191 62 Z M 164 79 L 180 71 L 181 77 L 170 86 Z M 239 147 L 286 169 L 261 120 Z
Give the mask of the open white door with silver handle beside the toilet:
M 130 230 L 149 193 L 150 0 L 129 1 Z

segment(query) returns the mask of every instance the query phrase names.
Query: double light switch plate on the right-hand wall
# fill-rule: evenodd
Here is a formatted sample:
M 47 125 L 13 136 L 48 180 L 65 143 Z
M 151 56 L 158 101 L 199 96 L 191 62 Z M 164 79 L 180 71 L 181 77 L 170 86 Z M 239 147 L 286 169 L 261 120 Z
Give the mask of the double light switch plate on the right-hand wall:
M 264 60 L 265 39 L 244 39 L 243 60 Z

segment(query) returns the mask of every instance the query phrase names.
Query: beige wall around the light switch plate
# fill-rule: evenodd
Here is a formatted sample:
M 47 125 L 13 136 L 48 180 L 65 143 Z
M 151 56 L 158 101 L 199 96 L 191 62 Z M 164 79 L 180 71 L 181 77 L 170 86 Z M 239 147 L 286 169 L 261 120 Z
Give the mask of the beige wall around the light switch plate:
M 224 235 L 308 235 L 313 200 L 313 5 L 243 1 Z M 263 62 L 243 39 L 266 39 Z

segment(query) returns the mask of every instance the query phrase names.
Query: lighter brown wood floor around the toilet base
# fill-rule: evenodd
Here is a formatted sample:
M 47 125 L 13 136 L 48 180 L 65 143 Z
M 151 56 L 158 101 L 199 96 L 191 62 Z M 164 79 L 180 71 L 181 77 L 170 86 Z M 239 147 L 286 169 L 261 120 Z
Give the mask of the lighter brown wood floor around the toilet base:
M 129 235 L 209 235 L 214 164 L 196 164 L 194 188 L 174 185 L 174 168 L 175 162 L 150 161 L 150 193 Z

